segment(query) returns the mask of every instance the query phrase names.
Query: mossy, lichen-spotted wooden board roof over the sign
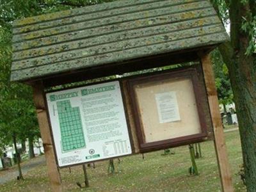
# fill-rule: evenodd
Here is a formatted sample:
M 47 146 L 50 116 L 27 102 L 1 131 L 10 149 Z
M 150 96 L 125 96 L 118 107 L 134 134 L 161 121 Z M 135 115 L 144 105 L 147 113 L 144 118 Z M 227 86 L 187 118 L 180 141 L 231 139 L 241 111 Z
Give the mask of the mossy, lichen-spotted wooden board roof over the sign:
M 86 6 L 16 20 L 11 80 L 44 79 L 227 39 L 208 0 L 124 0 Z

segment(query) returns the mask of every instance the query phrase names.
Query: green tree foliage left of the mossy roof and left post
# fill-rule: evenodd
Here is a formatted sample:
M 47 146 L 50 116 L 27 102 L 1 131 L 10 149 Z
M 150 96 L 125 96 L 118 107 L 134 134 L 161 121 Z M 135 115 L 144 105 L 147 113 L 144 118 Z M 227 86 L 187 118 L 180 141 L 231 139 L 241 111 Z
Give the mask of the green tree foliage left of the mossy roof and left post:
M 38 136 L 31 88 L 10 83 L 12 32 L 10 24 L 19 17 L 30 16 L 36 1 L 1 1 L 0 18 L 0 151 L 10 144 L 15 134 L 20 140 Z M 31 6 L 31 9 L 28 8 Z M 30 10 L 30 11 L 29 11 Z

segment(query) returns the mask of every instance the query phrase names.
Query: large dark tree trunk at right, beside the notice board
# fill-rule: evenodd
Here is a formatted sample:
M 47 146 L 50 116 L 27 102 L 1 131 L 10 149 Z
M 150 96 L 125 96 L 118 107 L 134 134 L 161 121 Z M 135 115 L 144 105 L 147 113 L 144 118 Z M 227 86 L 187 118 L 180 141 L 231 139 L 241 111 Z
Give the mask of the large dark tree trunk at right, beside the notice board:
M 245 52 L 250 35 L 241 30 L 242 18 L 248 18 L 248 4 L 230 1 L 230 39 L 220 46 L 227 64 L 234 93 L 237 120 L 243 150 L 244 173 L 247 191 L 256 191 L 256 62 Z

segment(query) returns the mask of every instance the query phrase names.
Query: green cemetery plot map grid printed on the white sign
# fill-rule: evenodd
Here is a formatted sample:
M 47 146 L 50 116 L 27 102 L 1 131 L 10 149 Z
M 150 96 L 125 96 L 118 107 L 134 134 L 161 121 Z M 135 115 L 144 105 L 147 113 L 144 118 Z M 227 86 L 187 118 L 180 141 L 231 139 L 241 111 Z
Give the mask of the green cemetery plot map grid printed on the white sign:
M 86 147 L 79 107 L 72 108 L 70 100 L 61 100 L 56 104 L 60 122 L 62 152 Z

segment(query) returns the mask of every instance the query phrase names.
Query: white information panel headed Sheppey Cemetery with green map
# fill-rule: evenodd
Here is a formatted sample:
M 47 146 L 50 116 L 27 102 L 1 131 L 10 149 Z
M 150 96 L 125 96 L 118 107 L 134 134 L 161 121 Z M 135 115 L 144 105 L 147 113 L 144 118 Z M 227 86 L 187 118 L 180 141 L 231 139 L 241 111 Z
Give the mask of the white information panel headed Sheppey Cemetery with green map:
M 118 81 L 46 93 L 58 166 L 132 153 Z

